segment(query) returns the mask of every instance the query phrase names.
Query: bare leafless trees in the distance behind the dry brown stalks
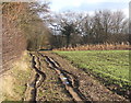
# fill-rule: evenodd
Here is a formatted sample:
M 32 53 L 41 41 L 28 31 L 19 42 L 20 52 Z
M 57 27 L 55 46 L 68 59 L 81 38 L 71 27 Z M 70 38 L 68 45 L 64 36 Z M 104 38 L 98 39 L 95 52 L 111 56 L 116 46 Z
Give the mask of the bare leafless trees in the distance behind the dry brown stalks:
M 94 15 L 64 12 L 52 24 L 52 48 L 85 44 L 129 44 L 129 22 L 122 11 L 96 11 Z M 56 32 L 56 33 L 55 33 Z

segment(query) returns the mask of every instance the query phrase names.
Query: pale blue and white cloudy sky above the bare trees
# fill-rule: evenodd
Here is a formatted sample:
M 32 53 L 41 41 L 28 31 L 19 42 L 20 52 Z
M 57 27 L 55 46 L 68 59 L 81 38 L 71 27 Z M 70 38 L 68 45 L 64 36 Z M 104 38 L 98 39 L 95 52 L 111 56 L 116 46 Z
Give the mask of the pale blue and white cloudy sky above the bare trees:
M 122 10 L 129 16 L 130 0 L 49 0 L 50 9 L 55 12 L 76 11 L 93 14 L 95 10 Z

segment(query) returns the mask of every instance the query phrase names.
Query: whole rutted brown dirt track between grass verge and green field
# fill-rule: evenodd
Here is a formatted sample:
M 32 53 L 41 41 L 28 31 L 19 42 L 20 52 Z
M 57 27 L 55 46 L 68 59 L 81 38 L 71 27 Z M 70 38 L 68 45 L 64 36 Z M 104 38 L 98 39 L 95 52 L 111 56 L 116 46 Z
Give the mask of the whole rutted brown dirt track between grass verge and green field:
M 34 96 L 29 101 L 127 101 L 112 93 L 91 75 L 49 52 L 33 53 Z M 29 89 L 28 89 L 29 90 Z M 28 94 L 33 94 L 29 91 Z

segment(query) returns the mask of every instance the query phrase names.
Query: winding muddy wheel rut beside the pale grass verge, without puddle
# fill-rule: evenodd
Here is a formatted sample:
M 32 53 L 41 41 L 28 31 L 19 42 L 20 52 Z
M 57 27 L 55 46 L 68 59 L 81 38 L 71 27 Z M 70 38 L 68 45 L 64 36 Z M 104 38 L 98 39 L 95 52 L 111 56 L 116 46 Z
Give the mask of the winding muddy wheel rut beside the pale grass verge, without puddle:
M 36 103 L 37 89 L 46 80 L 46 75 L 43 71 L 40 71 L 39 58 L 33 54 L 31 54 L 31 56 L 32 56 L 32 68 L 34 69 L 34 75 L 29 83 L 27 83 L 24 101 Z

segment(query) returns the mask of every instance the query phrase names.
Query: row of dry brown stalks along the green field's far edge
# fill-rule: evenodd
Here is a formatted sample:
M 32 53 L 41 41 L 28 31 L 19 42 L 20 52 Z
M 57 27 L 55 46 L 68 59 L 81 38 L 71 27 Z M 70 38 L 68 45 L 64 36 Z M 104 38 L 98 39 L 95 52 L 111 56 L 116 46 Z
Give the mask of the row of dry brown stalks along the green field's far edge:
M 63 47 L 53 50 L 124 50 L 131 49 L 129 44 L 97 44 L 97 45 L 81 45 L 78 47 Z

